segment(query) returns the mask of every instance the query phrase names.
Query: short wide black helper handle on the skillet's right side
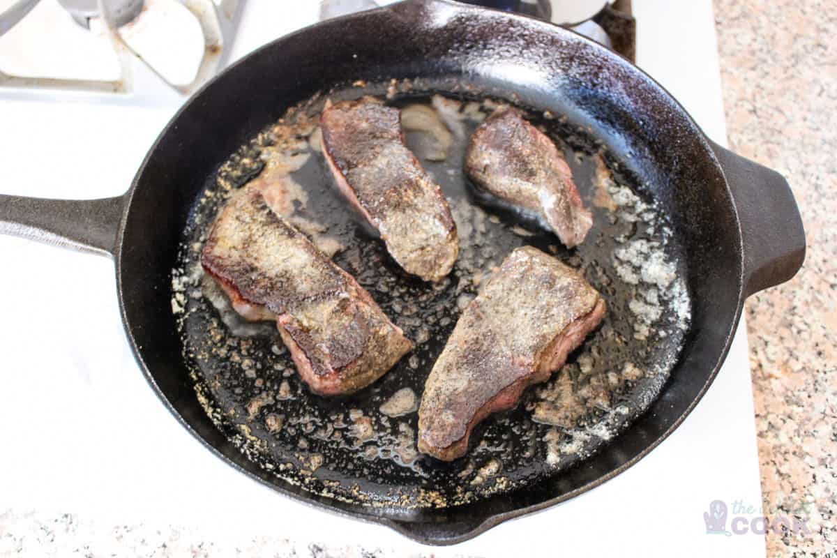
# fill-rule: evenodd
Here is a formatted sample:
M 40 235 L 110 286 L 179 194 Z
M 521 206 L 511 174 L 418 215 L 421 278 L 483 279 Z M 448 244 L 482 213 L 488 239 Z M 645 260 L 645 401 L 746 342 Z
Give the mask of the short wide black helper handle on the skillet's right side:
M 788 181 L 711 142 L 741 223 L 746 296 L 788 281 L 805 259 L 805 231 Z

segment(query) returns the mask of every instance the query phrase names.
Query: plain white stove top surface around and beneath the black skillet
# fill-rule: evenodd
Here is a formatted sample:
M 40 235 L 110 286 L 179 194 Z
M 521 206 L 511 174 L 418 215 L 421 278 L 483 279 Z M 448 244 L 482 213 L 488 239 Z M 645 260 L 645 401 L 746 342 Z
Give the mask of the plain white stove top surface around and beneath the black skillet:
M 634 0 L 634 13 L 639 65 L 723 143 L 711 1 Z M 250 2 L 233 58 L 315 19 L 316 3 L 291 11 Z M 176 109 L 176 100 L 131 105 L 0 92 L 0 190 L 121 194 Z M 743 324 L 703 402 L 639 464 L 566 504 L 432 549 L 285 499 L 213 458 L 141 376 L 108 259 L 7 237 L 0 253 L 0 535 L 23 525 L 9 524 L 13 516 L 46 521 L 69 513 L 87 525 L 74 544 L 97 555 L 129 551 L 130 535 L 117 526 L 136 523 L 145 525 L 146 539 L 165 535 L 175 555 L 172 540 L 202 540 L 229 555 L 223 549 L 254 548 L 254 538 L 264 542 L 262 552 L 280 555 L 312 543 L 383 555 L 764 555 L 763 537 L 706 535 L 703 523 L 711 500 L 761 503 Z M 39 536 L 18 535 L 29 535 L 30 550 Z

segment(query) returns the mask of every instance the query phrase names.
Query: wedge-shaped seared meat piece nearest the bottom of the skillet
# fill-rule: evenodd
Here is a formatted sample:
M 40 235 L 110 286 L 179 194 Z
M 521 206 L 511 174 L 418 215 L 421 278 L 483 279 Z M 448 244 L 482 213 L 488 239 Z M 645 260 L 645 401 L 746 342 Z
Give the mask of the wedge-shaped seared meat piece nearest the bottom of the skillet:
M 572 268 L 516 248 L 460 316 L 424 385 L 419 451 L 450 461 L 475 425 L 546 381 L 602 321 L 604 300 Z

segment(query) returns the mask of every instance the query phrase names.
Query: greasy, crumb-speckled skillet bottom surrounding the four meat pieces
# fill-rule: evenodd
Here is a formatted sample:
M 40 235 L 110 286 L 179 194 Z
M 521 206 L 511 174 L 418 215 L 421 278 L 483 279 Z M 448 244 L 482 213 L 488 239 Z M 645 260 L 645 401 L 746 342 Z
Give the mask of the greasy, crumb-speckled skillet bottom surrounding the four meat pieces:
M 348 89 L 333 97 L 362 94 Z M 198 399 L 247 457 L 286 482 L 329 498 L 397 509 L 484 499 L 561 474 L 648 408 L 675 365 L 690 302 L 680 247 L 641 184 L 587 131 L 528 113 L 562 147 L 594 226 L 573 251 L 537 223 L 475 197 L 462 172 L 465 145 L 495 100 L 405 96 L 408 146 L 448 197 L 460 237 L 449 276 L 404 274 L 331 183 L 321 161 L 319 110 L 295 107 L 230 156 L 195 202 L 172 271 L 172 310 Z M 249 182 L 281 179 L 281 211 L 353 274 L 416 348 L 371 387 L 313 395 L 275 327 L 248 324 L 203 277 L 199 253 L 218 209 Z M 439 463 L 416 451 L 424 380 L 461 310 L 512 249 L 530 244 L 580 269 L 607 300 L 603 325 L 550 381 L 474 433 L 465 458 Z M 511 335 L 512 332 L 510 332 Z

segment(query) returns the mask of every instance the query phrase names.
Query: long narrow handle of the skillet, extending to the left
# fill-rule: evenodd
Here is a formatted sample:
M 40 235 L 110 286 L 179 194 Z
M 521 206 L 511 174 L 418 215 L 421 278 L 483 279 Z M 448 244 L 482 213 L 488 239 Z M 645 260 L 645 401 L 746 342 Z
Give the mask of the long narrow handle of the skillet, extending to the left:
M 0 195 L 0 234 L 113 255 L 125 197 L 52 200 Z

